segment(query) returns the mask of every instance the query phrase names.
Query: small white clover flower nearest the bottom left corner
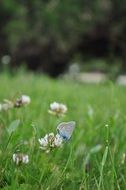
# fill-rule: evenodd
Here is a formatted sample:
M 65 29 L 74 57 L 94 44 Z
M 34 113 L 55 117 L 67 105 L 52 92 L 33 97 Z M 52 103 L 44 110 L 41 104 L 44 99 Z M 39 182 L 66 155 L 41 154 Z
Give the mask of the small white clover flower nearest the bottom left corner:
M 26 154 L 14 153 L 13 154 L 13 161 L 16 163 L 16 165 L 19 165 L 21 163 L 28 164 L 29 163 L 29 156 Z

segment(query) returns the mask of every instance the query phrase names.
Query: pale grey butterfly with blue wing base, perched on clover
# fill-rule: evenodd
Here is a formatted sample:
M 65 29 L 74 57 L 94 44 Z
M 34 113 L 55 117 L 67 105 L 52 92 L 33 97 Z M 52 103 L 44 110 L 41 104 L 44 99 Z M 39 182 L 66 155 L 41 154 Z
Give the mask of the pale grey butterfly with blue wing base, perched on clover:
M 58 134 L 64 139 L 69 140 L 74 129 L 75 129 L 76 122 L 62 122 L 57 126 Z

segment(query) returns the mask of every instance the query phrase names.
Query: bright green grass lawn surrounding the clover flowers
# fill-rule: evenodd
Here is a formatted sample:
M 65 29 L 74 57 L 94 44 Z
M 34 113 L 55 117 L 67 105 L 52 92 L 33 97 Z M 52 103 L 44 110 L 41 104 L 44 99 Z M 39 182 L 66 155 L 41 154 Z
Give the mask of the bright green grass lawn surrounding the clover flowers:
M 126 189 L 126 87 L 1 74 L 0 100 L 21 94 L 31 97 L 30 105 L 0 113 L 1 189 Z M 48 114 L 53 101 L 68 106 L 66 117 Z M 10 137 L 6 129 L 17 119 L 20 125 Z M 69 142 L 49 154 L 39 149 L 38 138 L 71 120 L 77 125 Z M 17 150 L 29 155 L 29 164 L 13 163 Z

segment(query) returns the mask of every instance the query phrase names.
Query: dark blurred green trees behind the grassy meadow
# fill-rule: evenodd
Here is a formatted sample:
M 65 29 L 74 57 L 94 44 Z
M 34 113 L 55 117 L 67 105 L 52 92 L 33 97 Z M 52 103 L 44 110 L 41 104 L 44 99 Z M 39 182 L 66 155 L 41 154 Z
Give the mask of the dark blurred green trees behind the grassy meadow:
M 126 1 L 1 0 L 0 57 L 57 76 L 73 61 L 102 57 L 126 67 Z

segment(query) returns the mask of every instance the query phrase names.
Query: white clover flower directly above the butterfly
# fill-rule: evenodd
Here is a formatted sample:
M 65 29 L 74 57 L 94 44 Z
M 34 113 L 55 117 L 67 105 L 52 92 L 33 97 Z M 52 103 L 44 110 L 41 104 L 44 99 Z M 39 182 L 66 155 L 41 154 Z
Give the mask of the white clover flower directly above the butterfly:
M 53 115 L 64 115 L 67 112 L 67 106 L 62 103 L 53 102 L 50 104 L 49 113 Z

